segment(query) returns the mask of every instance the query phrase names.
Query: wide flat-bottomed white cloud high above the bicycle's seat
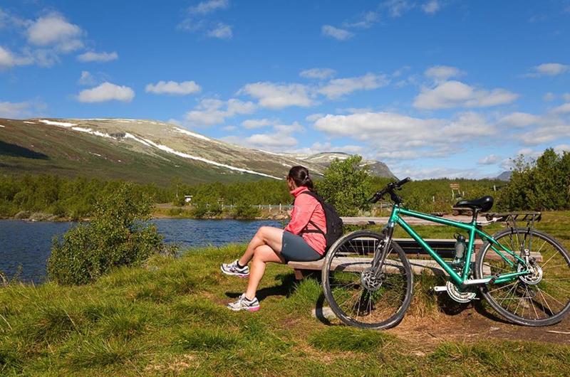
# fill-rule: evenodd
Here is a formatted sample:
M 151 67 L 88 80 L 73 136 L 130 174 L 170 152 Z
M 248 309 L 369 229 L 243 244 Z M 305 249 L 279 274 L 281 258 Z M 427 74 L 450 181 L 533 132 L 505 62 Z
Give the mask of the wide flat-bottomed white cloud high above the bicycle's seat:
M 484 90 L 459 81 L 446 81 L 436 87 L 424 88 L 415 97 L 419 109 L 448 109 L 451 107 L 489 107 L 513 102 L 519 95 L 504 89 Z

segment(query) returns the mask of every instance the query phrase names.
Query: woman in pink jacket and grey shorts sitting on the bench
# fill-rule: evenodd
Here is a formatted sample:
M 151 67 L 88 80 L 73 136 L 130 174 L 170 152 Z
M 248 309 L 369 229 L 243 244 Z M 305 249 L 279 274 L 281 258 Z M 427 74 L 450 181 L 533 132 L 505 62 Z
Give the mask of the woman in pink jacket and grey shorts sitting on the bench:
M 267 262 L 286 263 L 291 260 L 319 260 L 325 253 L 326 218 L 321 203 L 311 195 L 313 181 L 304 166 L 293 166 L 287 175 L 289 192 L 295 197 L 291 221 L 285 229 L 262 226 L 247 245 L 244 255 L 220 268 L 227 275 L 249 277 L 247 290 L 236 302 L 227 305 L 232 310 L 259 310 L 257 286 L 265 272 Z M 318 228 L 317 228 L 318 227 Z M 247 267 L 252 262 L 251 272 Z

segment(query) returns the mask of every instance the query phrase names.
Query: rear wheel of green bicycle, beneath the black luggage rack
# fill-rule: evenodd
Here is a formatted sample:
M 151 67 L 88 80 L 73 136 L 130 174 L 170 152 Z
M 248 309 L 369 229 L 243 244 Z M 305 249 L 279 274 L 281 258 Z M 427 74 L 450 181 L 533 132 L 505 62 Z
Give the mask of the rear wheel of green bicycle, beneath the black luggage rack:
M 509 228 L 494 235 L 503 247 L 521 256 L 528 249 L 528 266 L 499 248 L 502 259 L 489 242 L 477 255 L 477 278 L 529 270 L 509 282 L 482 287 L 487 302 L 503 317 L 524 326 L 549 326 L 561 321 L 570 310 L 570 257 L 551 235 L 528 228 Z

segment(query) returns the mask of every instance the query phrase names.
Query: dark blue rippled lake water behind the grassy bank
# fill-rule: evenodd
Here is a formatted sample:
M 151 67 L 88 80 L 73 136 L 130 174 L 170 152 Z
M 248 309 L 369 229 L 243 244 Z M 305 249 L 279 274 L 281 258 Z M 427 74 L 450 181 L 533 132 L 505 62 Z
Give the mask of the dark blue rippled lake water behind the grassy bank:
M 153 220 L 165 241 L 177 243 L 182 250 L 191 247 L 248 242 L 261 225 L 282 228 L 279 221 L 239 220 Z M 16 220 L 0 221 L 0 271 L 8 277 L 19 272 L 19 280 L 43 282 L 51 240 L 71 228 L 73 223 L 29 223 Z M 21 267 L 20 267 L 21 266 Z

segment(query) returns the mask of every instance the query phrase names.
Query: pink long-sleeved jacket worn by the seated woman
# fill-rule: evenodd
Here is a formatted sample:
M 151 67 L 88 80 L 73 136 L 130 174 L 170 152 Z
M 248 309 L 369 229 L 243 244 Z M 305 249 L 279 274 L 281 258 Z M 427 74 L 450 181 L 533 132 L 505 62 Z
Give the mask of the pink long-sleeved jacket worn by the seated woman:
M 316 228 L 312 224 L 309 224 L 309 220 L 311 220 L 318 228 L 326 233 L 326 218 L 323 206 L 321 206 L 321 203 L 318 203 L 316 198 L 310 195 L 300 195 L 303 191 L 309 191 L 309 188 L 301 186 L 290 191 L 291 195 L 295 197 L 295 203 L 293 212 L 291 212 L 291 221 L 289 221 L 285 230 L 296 235 L 299 235 L 306 227 L 309 230 L 314 230 Z M 301 237 L 303 237 L 305 242 L 308 243 L 311 248 L 314 248 L 317 253 L 324 255 L 326 247 L 324 235 L 321 233 L 302 233 Z

